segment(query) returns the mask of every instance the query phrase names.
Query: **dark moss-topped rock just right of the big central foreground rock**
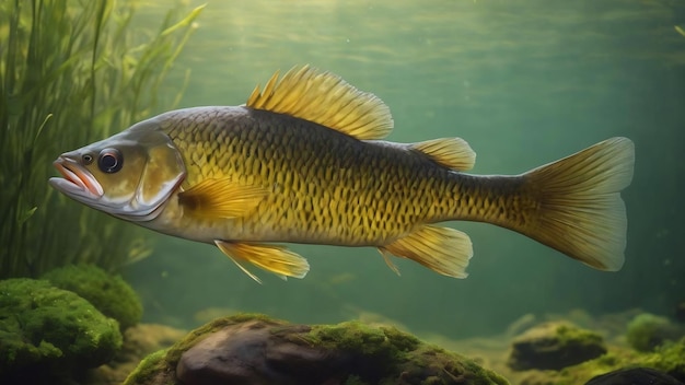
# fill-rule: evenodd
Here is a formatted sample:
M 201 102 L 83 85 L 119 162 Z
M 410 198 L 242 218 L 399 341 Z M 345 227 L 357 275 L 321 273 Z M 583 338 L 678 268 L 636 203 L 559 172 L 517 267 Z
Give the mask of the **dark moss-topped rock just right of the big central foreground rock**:
M 561 370 L 606 353 L 600 335 L 565 323 L 546 323 L 512 342 L 507 364 L 515 371 Z

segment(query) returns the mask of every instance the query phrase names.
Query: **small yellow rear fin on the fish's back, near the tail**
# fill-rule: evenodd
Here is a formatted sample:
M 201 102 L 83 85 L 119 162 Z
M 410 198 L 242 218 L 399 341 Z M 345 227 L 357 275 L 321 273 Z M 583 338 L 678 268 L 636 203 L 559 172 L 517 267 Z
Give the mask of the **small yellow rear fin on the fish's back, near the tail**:
M 411 148 L 437 163 L 456 171 L 467 171 L 476 163 L 476 152 L 462 138 L 443 138 L 413 143 Z

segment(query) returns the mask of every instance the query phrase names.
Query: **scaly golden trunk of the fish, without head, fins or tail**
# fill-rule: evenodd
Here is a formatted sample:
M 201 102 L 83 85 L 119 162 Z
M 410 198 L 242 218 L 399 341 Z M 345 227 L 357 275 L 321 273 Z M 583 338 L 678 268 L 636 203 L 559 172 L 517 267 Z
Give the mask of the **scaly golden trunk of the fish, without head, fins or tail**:
M 382 246 L 417 224 L 467 219 L 464 209 L 483 209 L 481 201 L 461 203 L 480 197 L 484 179 L 439 165 L 411 144 L 357 140 L 244 106 L 182 109 L 159 121 L 181 153 L 212 154 L 184 160 L 184 189 L 224 178 L 268 189 L 239 218 L 185 215 L 182 198 L 156 219 L 155 230 L 184 229 L 186 238 L 212 243 L 230 234 L 248 242 Z

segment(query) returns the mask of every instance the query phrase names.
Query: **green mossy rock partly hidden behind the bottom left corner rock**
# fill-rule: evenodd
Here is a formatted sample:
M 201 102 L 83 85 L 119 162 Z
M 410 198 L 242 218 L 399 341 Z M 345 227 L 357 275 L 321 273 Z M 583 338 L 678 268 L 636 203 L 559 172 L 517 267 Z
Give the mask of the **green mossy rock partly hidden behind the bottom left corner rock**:
M 142 317 L 142 304 L 133 289 L 121 277 L 94 265 L 69 265 L 42 278 L 86 299 L 102 314 L 116 319 L 121 330 L 138 324 Z

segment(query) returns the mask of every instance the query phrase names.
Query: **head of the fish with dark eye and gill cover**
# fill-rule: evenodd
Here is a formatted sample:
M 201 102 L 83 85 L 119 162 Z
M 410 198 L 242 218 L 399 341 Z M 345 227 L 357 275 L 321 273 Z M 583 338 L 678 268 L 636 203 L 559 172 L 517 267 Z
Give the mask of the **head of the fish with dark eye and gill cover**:
M 68 197 L 135 222 L 156 218 L 186 176 L 181 152 L 154 120 L 61 154 L 62 177 L 49 183 Z

